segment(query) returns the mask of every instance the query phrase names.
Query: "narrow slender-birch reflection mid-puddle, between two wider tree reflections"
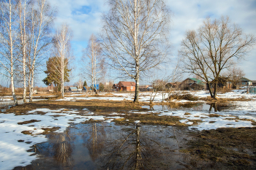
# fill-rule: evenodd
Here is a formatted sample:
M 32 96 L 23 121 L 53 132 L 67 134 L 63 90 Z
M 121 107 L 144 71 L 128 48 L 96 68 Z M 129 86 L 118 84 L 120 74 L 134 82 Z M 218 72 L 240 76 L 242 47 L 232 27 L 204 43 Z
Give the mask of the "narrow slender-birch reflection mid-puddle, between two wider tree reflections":
M 83 142 L 89 150 L 91 160 L 95 161 L 105 147 L 105 126 L 102 123 L 91 123 L 88 126 L 83 126 L 81 130 Z

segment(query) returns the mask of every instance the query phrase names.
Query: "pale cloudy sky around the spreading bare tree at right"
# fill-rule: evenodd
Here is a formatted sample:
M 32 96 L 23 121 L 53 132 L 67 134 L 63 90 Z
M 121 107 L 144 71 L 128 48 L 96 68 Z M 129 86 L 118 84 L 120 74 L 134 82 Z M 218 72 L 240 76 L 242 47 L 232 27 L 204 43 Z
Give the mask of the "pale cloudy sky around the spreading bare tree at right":
M 173 15 L 173 26 L 170 31 L 173 43 L 173 55 L 178 55 L 181 40 L 186 31 L 197 29 L 206 17 L 220 18 L 228 15 L 232 23 L 238 24 L 244 33 L 255 34 L 256 31 L 256 1 L 217 0 L 217 1 L 188 1 L 168 0 Z M 238 66 L 244 69 L 246 77 L 256 80 L 256 49 L 245 56 L 246 61 L 241 61 Z

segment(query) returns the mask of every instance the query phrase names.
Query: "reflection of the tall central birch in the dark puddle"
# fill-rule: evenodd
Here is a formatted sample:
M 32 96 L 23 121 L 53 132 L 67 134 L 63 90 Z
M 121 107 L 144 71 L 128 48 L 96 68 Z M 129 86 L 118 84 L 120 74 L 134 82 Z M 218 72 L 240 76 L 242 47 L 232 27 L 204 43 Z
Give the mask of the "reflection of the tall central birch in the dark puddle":
M 167 144 L 159 136 L 141 131 L 137 125 L 136 129 L 106 141 L 98 165 L 101 169 L 168 169 L 165 147 Z

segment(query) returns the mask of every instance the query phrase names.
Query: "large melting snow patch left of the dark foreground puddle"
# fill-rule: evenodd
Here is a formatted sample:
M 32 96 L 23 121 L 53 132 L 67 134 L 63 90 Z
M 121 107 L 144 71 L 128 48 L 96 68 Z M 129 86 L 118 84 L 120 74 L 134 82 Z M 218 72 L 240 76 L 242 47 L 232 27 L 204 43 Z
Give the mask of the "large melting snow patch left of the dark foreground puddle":
M 45 112 L 45 115 L 33 114 L 38 111 Z M 64 111 L 64 109 L 42 108 L 34 109 L 29 113 L 31 115 L 0 113 L 0 169 L 2 170 L 13 169 L 15 166 L 27 166 L 31 161 L 37 159 L 37 155 L 31 155 L 31 152 L 27 152 L 27 150 L 31 149 L 33 144 L 48 140 L 45 135 L 41 134 L 43 132 L 42 128 L 59 127 L 59 130 L 56 131 L 56 133 L 59 133 L 65 131 L 69 123 L 80 123 L 90 119 L 105 120 L 105 116 L 75 115 L 74 113 L 78 113 L 76 109 Z M 56 115 L 58 117 L 53 117 Z M 122 117 L 110 118 L 108 121 Z M 23 123 L 29 120 L 38 120 L 39 122 Z M 23 134 L 22 131 L 29 131 L 31 135 Z M 29 144 L 26 142 L 29 142 Z

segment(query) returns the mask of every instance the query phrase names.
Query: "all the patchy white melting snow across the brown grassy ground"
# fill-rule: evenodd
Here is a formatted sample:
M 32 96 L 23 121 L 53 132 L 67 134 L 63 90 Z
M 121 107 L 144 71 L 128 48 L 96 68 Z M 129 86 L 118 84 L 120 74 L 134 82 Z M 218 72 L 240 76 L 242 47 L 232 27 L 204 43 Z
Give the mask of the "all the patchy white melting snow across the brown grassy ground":
M 148 114 L 151 112 L 158 113 L 159 116 L 178 116 L 181 117 L 181 123 L 186 123 L 189 129 L 203 130 L 203 129 L 216 129 L 222 127 L 252 127 L 252 123 L 256 121 L 256 95 L 243 93 L 244 90 L 234 90 L 230 93 L 218 94 L 219 98 L 251 98 L 251 101 L 234 101 L 233 104 L 236 107 L 232 107 L 232 110 L 224 110 L 222 112 L 208 112 L 207 110 L 195 111 L 191 110 L 154 110 L 148 112 L 131 111 L 141 114 Z M 178 92 L 173 92 L 178 93 Z M 199 98 L 209 96 L 206 91 L 188 92 L 192 93 Z M 162 98 L 166 98 L 167 93 L 157 93 L 154 101 L 162 101 Z M 73 94 L 67 96 L 59 101 L 76 101 L 76 100 L 132 100 L 134 94 L 132 93 L 113 93 L 113 96 L 104 96 L 104 93 L 100 97 L 82 97 L 80 94 Z M 151 97 L 151 93 L 140 93 L 140 101 L 148 102 Z M 187 102 L 187 101 L 178 101 Z M 202 101 L 200 101 L 202 102 Z M 37 115 L 37 112 L 45 112 L 44 114 Z M 80 115 L 78 113 L 83 112 L 86 115 Z M 29 115 L 28 115 L 29 114 Z M 217 116 L 213 115 L 217 114 Z M 56 117 L 56 115 L 59 115 Z M 115 115 L 115 117 L 113 117 Z M 24 115 L 15 115 L 13 113 L 4 114 L 0 113 L 0 169 L 13 169 L 15 166 L 26 166 L 31 161 L 37 158 L 36 155 L 31 155 L 31 152 L 26 152 L 31 149 L 33 144 L 39 142 L 45 142 L 47 139 L 42 128 L 59 127 L 56 132 L 63 132 L 70 125 L 69 123 L 81 123 L 86 120 L 104 120 L 110 123 L 116 118 L 121 118 L 122 114 L 112 113 L 110 117 L 97 116 L 93 112 L 89 112 L 88 109 L 35 109 L 24 113 Z M 34 123 L 20 124 L 24 121 L 37 120 Z M 194 125 L 193 120 L 200 120 L 197 125 Z M 129 121 L 129 120 L 128 120 Z M 140 123 L 141 120 L 136 120 L 135 123 Z M 20 125 L 19 125 L 19 124 Z M 22 131 L 30 131 L 31 135 L 22 134 Z

